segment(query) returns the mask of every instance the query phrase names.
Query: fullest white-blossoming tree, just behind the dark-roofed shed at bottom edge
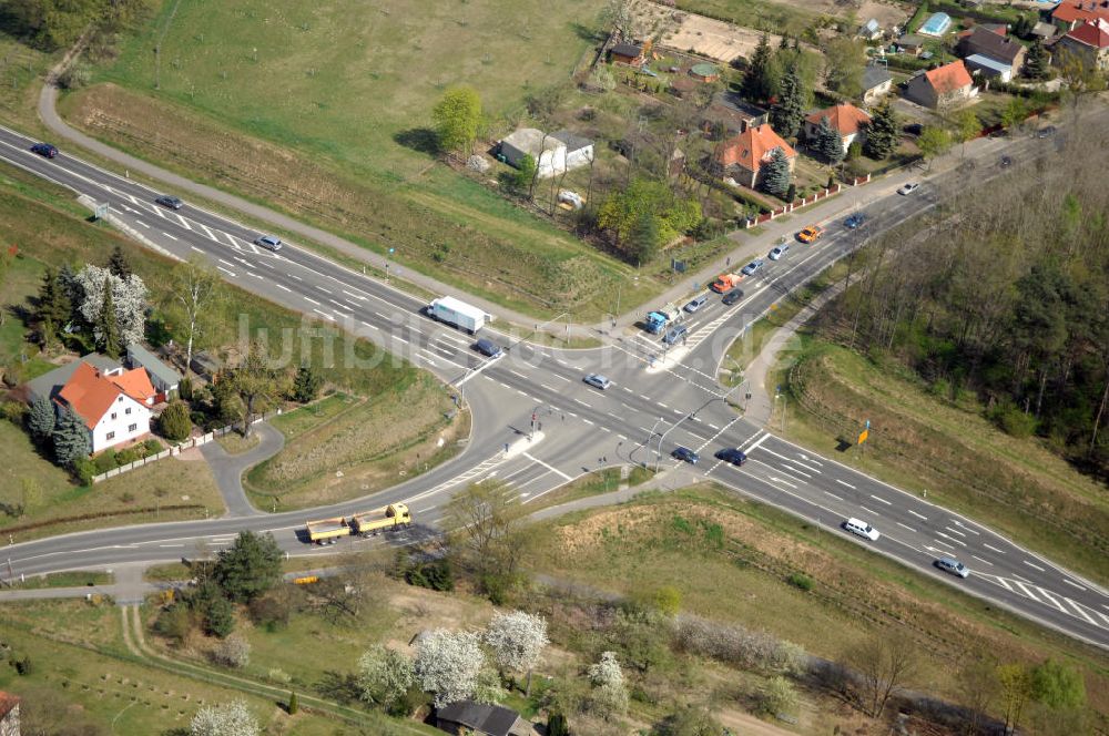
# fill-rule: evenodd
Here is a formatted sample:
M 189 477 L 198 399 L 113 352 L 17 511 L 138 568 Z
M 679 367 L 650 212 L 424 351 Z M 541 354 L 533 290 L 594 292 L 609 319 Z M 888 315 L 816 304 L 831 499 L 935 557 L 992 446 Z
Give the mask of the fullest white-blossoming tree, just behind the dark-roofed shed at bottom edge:
M 471 632 L 435 628 L 416 643 L 416 682 L 433 694 L 435 707 L 474 695 L 478 674 L 485 665 L 480 637 Z

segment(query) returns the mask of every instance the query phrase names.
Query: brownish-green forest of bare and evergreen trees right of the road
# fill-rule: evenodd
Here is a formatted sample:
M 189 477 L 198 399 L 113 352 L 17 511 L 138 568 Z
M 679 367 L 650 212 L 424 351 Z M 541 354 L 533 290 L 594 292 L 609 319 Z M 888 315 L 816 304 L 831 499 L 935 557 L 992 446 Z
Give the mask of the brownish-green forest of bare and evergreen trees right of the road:
M 830 317 L 835 339 L 893 356 L 938 395 L 974 392 L 1005 431 L 1105 480 L 1109 141 L 1074 122 L 1000 176 L 965 165 L 932 222 L 864 249 Z

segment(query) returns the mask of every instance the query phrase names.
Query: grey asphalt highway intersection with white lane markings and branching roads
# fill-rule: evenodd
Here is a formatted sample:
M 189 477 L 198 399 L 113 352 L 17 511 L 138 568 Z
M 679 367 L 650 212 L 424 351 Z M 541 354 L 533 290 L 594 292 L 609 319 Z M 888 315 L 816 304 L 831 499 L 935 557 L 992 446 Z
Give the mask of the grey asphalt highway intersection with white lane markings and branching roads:
M 255 228 L 189 202 L 180 209 L 162 207 L 155 197 L 174 192 L 154 191 L 65 151 L 54 159 L 38 156 L 30 151 L 33 143 L 0 129 L 0 159 L 108 204 L 113 222 L 150 247 L 177 258 L 200 255 L 228 282 L 386 348 L 383 359 L 399 356 L 434 372 L 444 381 L 444 390 L 470 408 L 474 429 L 458 456 L 369 499 L 30 542 L 10 539 L 0 555 L 4 575 L 176 560 L 201 549 L 218 550 L 246 529 L 273 532 L 291 554 L 327 554 L 335 549 L 306 543 L 306 520 L 349 515 L 395 501 L 407 502 L 417 521 L 401 539 L 418 539 L 434 533 L 447 499 L 469 482 L 507 481 L 528 503 L 606 466 L 674 467 L 680 461 L 671 452 L 682 446 L 701 454 L 699 472 L 749 498 L 844 534 L 994 605 L 1109 647 L 1109 594 L 1099 585 L 971 519 L 774 436 L 742 413 L 745 393 L 763 387 L 722 387 L 718 380 L 729 345 L 784 295 L 867 238 L 934 206 L 945 184 L 958 188 L 965 171 L 937 174 L 910 196 L 898 196 L 891 186 L 864 192 L 866 202 L 862 196 L 858 202 L 867 217 L 863 227 L 848 231 L 842 218 L 823 223 L 827 228 L 823 238 L 811 245 L 794 242 L 786 257 L 767 259 L 745 279 L 740 301 L 725 306 L 712 295 L 705 306 L 688 315 L 688 335 L 673 346 L 664 346 L 661 336 L 629 329 L 610 336 L 599 348 L 562 350 L 528 341 L 526 331 L 498 333 L 494 323 L 482 335 L 507 350 L 486 358 L 472 349 L 474 338 L 428 319 L 423 314 L 425 300 L 388 282 L 292 243 L 276 252 L 266 249 L 255 245 L 263 234 Z M 1035 137 L 984 141 L 977 154 L 985 162 L 979 171 L 996 162 L 1003 150 L 1018 162 L 1030 162 L 1056 144 Z M 772 245 L 767 243 L 766 249 Z M 588 374 L 602 374 L 612 382 L 603 390 L 593 388 L 582 380 Z M 715 460 L 721 448 L 743 450 L 747 462 L 735 467 Z M 881 538 L 848 535 L 841 527 L 848 518 L 866 520 Z M 337 549 L 379 543 L 349 538 Z M 939 556 L 958 558 L 971 575 L 957 579 L 940 573 L 933 566 Z

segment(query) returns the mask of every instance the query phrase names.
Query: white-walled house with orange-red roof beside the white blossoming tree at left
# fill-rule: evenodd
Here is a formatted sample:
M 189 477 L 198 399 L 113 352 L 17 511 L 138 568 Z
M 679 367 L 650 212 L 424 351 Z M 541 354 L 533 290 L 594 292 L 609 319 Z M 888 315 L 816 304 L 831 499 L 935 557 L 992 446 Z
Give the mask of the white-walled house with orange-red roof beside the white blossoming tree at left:
M 89 429 L 92 451 L 132 442 L 150 433 L 155 391 L 142 368 L 104 371 L 83 360 L 54 397 Z

